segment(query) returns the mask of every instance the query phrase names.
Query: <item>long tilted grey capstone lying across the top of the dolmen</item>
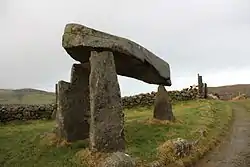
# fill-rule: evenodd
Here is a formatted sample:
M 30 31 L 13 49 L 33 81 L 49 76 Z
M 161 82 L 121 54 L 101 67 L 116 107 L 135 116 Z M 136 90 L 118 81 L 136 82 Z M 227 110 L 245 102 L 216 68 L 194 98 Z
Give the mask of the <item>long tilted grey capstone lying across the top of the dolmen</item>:
M 62 45 L 73 59 L 81 63 L 89 62 L 91 51 L 111 51 L 117 74 L 150 84 L 171 86 L 169 64 L 128 39 L 79 24 L 67 24 Z

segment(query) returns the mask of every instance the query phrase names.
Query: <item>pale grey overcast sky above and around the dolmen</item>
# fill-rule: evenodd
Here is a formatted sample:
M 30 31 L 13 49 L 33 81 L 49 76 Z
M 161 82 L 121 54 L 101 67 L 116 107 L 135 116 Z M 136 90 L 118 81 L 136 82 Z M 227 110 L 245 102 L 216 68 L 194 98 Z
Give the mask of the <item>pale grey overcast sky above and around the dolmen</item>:
M 0 0 L 0 88 L 54 91 L 75 61 L 61 46 L 80 23 L 131 39 L 170 64 L 173 85 L 250 83 L 249 0 Z M 119 77 L 122 95 L 156 85 Z

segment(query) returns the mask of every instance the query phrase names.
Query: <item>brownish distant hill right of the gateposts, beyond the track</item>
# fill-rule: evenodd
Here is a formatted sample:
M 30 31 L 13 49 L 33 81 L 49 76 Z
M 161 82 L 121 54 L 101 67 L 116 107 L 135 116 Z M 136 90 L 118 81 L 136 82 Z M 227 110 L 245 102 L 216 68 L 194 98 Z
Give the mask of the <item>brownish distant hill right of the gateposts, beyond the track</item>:
M 218 93 L 222 99 L 229 100 L 239 94 L 250 97 L 250 84 L 225 85 L 219 87 L 208 87 L 208 92 Z

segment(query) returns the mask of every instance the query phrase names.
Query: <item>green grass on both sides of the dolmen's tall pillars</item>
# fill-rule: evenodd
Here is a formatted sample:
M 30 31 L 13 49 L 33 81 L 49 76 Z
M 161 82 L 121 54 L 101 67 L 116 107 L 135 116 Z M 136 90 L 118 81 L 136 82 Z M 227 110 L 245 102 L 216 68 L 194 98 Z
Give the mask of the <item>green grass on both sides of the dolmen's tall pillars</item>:
M 200 129 L 208 137 L 201 141 L 199 153 L 228 125 L 231 118 L 229 102 L 189 101 L 173 106 L 175 123 L 159 124 L 152 121 L 152 108 L 125 110 L 127 153 L 145 162 L 157 159 L 157 147 L 166 140 L 185 138 L 195 140 Z M 56 147 L 41 142 L 41 134 L 54 126 L 53 121 L 10 123 L 0 126 L 0 166 L 62 167 L 80 166 L 78 151 L 87 148 L 86 141 Z M 198 156 L 198 155 L 196 155 Z

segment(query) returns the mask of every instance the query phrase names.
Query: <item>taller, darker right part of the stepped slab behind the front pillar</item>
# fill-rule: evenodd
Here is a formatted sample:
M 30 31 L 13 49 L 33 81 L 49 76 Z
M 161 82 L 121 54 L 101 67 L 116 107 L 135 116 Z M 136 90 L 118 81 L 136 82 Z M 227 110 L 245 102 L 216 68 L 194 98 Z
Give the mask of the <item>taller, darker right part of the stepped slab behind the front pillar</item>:
M 73 140 L 89 137 L 90 103 L 89 103 L 89 75 L 90 69 L 82 64 L 73 64 L 71 69 L 71 115 L 74 119 Z

